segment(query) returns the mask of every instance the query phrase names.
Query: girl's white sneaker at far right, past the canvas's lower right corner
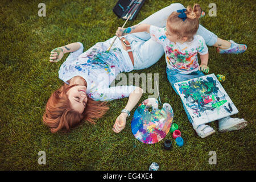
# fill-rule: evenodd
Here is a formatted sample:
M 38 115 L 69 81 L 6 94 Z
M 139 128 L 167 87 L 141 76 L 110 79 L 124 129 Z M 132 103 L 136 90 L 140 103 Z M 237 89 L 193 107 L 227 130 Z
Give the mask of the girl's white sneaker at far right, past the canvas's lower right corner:
M 225 117 L 218 120 L 218 131 L 220 132 L 241 130 L 246 126 L 245 119 Z

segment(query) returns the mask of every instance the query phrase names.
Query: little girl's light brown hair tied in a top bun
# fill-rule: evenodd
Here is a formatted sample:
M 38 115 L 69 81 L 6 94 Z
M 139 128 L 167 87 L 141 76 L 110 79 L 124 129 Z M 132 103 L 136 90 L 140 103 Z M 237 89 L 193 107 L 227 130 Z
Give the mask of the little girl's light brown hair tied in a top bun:
M 167 28 L 172 34 L 176 34 L 179 39 L 187 37 L 187 41 L 192 41 L 193 35 L 196 34 L 199 28 L 201 13 L 202 9 L 199 4 L 195 4 L 193 9 L 188 6 L 187 11 L 185 11 L 187 18 L 183 22 L 183 19 L 178 17 L 180 13 L 175 11 L 167 19 Z

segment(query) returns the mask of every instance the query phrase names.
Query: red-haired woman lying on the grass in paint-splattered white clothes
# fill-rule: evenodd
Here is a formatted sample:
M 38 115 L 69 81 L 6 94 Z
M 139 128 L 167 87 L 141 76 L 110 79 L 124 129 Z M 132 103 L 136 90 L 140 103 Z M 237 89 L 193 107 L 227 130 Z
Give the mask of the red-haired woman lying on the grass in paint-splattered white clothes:
M 144 19 L 141 24 L 165 27 L 168 16 L 183 8 L 180 3 L 171 4 Z M 208 46 L 217 47 L 220 53 L 242 53 L 246 50 L 246 46 L 242 49 L 240 44 L 222 40 L 201 25 L 197 34 L 204 38 Z M 43 115 L 43 122 L 51 128 L 52 133 L 61 129 L 69 131 L 82 120 L 95 123 L 95 119 L 108 110 L 105 101 L 129 97 L 125 108 L 120 109 L 121 114 L 115 120 L 113 131 L 119 133 L 125 128 L 126 118 L 138 103 L 143 90 L 133 85 L 109 85 L 118 73 L 145 69 L 155 64 L 163 56 L 164 49 L 151 39 L 150 34 L 139 32 L 117 39 L 108 52 L 106 50 L 113 39 L 96 43 L 85 52 L 82 43 L 52 50 L 51 62 L 57 62 L 64 53 L 72 52 L 59 70 L 59 78 L 64 84 L 52 93 Z

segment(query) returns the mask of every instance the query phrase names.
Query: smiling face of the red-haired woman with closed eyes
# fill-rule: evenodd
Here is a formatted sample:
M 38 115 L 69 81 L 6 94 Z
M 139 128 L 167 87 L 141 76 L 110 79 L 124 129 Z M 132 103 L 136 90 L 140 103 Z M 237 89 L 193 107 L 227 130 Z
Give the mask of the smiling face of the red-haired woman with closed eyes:
M 82 113 L 87 103 L 86 86 L 73 86 L 67 92 L 68 99 L 71 102 L 72 109 Z

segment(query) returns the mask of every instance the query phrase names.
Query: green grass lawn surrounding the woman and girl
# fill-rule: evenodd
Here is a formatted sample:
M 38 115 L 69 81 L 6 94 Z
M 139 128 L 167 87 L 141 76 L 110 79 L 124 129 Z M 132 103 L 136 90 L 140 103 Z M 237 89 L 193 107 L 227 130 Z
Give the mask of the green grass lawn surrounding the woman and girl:
M 38 16 L 40 2 L 46 4 L 46 17 Z M 174 2 L 147 0 L 126 27 Z M 199 3 L 206 13 L 200 20 L 204 27 L 222 39 L 247 44 L 241 55 L 220 55 L 209 47 L 209 73 L 226 76 L 222 86 L 239 110 L 234 117 L 248 121 L 245 129 L 219 133 L 217 122 L 212 122 L 209 125 L 216 133 L 204 139 L 197 137 L 180 97 L 167 80 L 163 56 L 152 67 L 131 73 L 159 73 L 161 100 L 174 109 L 183 147 L 174 144 L 171 151 L 165 151 L 163 140 L 156 144 L 139 142 L 131 133 L 131 117 L 121 133 L 114 133 L 112 126 L 127 98 L 109 102 L 108 113 L 96 125 L 83 123 L 70 133 L 50 133 L 42 116 L 49 96 L 63 84 L 58 71 L 68 56 L 50 63 L 51 50 L 82 42 L 85 51 L 114 36 L 124 20 L 112 11 L 117 0 L 6 0 L 0 5 L 0 169 L 148 170 L 156 162 L 159 170 L 255 170 L 255 1 L 215 0 L 216 17 L 208 15 L 212 1 L 179 2 L 185 7 Z M 140 102 L 148 95 L 143 94 Z M 171 139 L 171 133 L 167 138 Z M 39 151 L 46 152 L 46 165 L 38 164 Z M 209 165 L 209 151 L 217 152 L 217 165 Z

